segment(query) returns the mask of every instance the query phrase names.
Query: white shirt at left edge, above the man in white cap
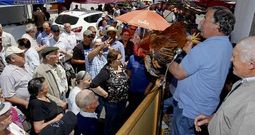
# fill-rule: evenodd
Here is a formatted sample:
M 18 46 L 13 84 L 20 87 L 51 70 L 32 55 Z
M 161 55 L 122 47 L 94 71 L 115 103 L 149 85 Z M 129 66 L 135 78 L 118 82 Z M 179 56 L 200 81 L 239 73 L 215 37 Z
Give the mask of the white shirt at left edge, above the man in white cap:
M 2 45 L 6 49 L 8 46 L 18 46 L 15 38 L 10 33 L 4 32 L 2 34 Z

